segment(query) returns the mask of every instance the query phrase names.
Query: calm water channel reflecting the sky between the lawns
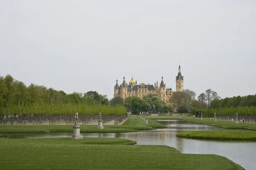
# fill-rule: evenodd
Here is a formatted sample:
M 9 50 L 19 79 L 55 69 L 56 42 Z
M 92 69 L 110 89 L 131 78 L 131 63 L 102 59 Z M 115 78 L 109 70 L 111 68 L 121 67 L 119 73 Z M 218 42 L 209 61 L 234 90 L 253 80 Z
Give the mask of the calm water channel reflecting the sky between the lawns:
M 182 139 L 177 133 L 192 130 L 225 130 L 221 127 L 202 125 L 179 120 L 157 120 L 167 126 L 165 129 L 144 130 L 135 133 L 81 133 L 83 137 L 124 138 L 136 141 L 137 144 L 167 145 L 175 147 L 180 153 L 216 154 L 240 164 L 246 170 L 256 170 L 256 142 L 210 141 Z M 7 138 L 52 138 L 70 137 L 73 133 L 23 133 L 2 134 Z M 214 162 L 209 162 L 214 163 Z

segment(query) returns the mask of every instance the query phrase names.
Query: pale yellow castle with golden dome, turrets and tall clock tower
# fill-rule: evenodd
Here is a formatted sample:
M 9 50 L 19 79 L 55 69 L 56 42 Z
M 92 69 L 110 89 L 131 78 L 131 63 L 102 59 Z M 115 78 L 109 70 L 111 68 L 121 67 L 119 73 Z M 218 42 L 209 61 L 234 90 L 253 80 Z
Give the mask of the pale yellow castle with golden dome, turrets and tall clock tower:
M 176 91 L 183 91 L 183 76 L 181 75 L 181 69 L 179 65 L 179 72 L 176 76 Z M 118 81 L 116 79 L 116 85 L 114 86 L 114 98 L 121 97 L 125 99 L 126 97 L 137 96 L 140 99 L 143 96 L 147 96 L 148 94 L 156 94 L 159 99 L 169 104 L 169 99 L 172 97 L 173 91 L 172 88 L 166 89 L 166 84 L 163 82 L 163 76 L 160 85 L 157 83 L 152 84 L 137 84 L 137 80 L 134 81 L 131 76 L 131 80 L 129 84 L 125 82 L 125 77 L 123 78 L 122 84 L 118 85 Z

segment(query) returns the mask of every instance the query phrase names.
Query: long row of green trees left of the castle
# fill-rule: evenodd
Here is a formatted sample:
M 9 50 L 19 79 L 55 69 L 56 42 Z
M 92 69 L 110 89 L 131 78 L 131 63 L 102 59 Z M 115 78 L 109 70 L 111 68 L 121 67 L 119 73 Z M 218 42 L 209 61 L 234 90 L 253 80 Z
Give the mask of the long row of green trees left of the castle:
M 109 106 L 107 96 L 96 91 L 66 94 L 64 91 L 57 91 L 44 85 L 31 83 L 26 86 L 9 74 L 5 77 L 0 76 L 0 114 L 68 114 L 78 108 L 81 108 L 81 113 L 84 114 L 98 113 L 101 109 L 105 109 L 109 114 L 125 112 L 124 106 L 116 106 L 117 110 L 113 109 L 113 106 Z M 103 111 L 102 113 L 104 114 Z

